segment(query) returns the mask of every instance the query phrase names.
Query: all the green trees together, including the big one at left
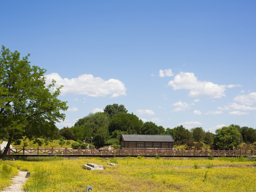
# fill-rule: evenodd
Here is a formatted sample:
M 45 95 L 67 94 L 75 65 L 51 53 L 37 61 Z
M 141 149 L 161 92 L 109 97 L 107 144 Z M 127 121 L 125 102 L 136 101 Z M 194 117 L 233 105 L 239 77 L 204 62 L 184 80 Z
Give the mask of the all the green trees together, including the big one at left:
M 58 130 L 55 122 L 65 119 L 61 111 L 68 108 L 67 102 L 58 99 L 61 87 L 55 87 L 54 80 L 46 86 L 46 70 L 30 66 L 28 57 L 29 54 L 20 58 L 18 51 L 11 52 L 4 46 L 0 51 L 0 138 L 8 140 L 4 154 L 13 139 L 54 138 L 58 134 L 74 140 L 88 141 L 93 137 L 97 147 L 118 143 L 122 133 L 172 134 L 178 144 L 203 141 L 220 149 L 256 141 L 255 129 L 238 125 L 222 127 L 216 134 L 205 133 L 202 127 L 187 130 L 182 125 L 165 130 L 153 122 L 143 123 L 118 104 L 108 105 L 103 113 L 90 114 L 74 126 Z

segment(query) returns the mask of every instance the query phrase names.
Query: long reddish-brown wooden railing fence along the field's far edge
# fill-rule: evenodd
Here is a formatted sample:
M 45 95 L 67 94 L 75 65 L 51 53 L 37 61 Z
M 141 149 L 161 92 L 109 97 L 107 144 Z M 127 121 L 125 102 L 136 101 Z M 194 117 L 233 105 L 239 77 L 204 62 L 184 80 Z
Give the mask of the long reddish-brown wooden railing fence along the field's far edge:
M 17 156 L 165 156 L 165 157 L 207 157 L 207 156 L 251 156 L 255 150 L 184 150 L 184 149 L 11 149 L 8 155 Z

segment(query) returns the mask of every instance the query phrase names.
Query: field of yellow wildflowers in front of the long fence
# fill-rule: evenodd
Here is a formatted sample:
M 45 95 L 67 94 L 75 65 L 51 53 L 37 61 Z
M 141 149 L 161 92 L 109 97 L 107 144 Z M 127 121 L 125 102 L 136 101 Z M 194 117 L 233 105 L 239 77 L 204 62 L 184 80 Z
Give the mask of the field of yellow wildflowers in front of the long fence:
M 110 166 L 108 163 L 116 163 Z M 30 172 L 25 191 L 256 191 L 255 161 L 245 158 L 52 158 L 6 161 Z M 89 171 L 83 165 L 103 165 Z

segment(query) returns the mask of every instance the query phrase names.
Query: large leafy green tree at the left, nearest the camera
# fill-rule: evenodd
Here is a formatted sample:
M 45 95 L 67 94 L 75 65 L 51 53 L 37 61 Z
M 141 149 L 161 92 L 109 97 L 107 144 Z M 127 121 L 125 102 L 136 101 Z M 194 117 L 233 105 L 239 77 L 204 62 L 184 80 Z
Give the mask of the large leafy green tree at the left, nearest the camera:
M 11 52 L 4 46 L 0 52 L 0 132 L 8 138 L 4 154 L 13 138 L 25 135 L 26 129 L 29 134 L 37 134 L 45 127 L 42 122 L 52 124 L 65 119 L 60 110 L 68 108 L 58 99 L 61 87 L 55 88 L 54 81 L 46 86 L 46 70 L 30 66 L 28 57 L 20 58 L 18 51 Z

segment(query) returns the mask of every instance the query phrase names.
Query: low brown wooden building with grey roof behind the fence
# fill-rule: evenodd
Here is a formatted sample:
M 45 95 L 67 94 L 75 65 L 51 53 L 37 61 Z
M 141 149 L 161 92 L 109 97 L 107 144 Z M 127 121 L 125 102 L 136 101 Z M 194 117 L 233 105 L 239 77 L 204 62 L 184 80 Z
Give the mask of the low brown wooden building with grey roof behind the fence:
M 172 135 L 121 134 L 121 149 L 170 149 L 173 148 Z

